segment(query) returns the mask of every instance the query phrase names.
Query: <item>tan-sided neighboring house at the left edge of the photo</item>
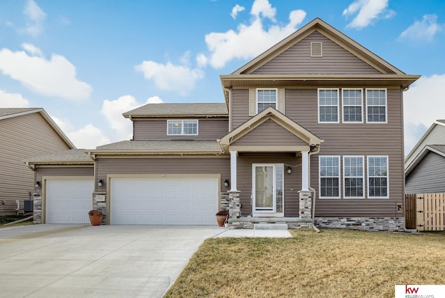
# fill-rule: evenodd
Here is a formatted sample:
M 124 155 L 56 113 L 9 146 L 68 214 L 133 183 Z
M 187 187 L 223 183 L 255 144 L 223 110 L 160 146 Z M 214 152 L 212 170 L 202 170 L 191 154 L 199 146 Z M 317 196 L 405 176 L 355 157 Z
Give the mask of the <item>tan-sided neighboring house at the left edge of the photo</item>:
M 23 211 L 33 198 L 34 175 L 22 159 L 74 148 L 44 109 L 0 109 L 0 215 Z M 40 192 L 40 191 L 39 191 Z

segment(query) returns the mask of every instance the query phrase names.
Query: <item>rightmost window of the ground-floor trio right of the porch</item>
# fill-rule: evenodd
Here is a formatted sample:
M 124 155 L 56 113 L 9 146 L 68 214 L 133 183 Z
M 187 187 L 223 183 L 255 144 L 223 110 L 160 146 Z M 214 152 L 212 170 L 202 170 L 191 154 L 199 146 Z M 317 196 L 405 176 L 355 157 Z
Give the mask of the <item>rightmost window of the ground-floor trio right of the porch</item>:
M 389 198 L 388 157 L 368 157 L 368 198 Z

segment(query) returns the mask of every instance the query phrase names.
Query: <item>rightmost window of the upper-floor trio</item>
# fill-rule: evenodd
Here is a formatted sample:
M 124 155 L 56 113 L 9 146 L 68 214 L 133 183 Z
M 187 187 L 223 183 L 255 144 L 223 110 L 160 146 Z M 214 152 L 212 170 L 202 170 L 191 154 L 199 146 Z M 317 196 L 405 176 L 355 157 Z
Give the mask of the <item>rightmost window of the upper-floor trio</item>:
M 387 89 L 366 89 L 366 122 L 387 123 Z

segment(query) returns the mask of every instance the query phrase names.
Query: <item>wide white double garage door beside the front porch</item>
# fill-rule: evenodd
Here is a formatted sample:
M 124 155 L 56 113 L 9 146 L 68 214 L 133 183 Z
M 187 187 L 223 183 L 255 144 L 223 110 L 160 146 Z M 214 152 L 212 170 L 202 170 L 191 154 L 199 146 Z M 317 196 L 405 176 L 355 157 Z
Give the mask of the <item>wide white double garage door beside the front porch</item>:
M 111 178 L 111 224 L 214 225 L 218 178 Z

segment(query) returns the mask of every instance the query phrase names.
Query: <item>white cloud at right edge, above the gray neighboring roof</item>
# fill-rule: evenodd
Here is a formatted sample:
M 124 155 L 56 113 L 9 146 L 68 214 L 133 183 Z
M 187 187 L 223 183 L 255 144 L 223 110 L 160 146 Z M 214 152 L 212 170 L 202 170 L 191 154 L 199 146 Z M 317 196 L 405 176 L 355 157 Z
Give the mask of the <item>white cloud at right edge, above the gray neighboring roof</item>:
M 435 120 L 445 119 L 445 75 L 421 77 L 403 94 L 405 152 L 419 141 L 426 127 Z

